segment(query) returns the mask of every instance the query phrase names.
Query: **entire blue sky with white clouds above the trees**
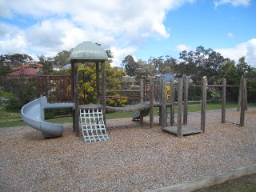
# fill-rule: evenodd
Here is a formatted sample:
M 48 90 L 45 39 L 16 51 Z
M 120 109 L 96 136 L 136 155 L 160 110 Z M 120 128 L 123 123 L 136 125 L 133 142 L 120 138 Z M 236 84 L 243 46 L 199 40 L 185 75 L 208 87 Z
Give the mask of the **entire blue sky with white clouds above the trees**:
M 54 57 L 81 42 L 135 60 L 198 46 L 256 67 L 256 0 L 0 0 L 0 54 Z

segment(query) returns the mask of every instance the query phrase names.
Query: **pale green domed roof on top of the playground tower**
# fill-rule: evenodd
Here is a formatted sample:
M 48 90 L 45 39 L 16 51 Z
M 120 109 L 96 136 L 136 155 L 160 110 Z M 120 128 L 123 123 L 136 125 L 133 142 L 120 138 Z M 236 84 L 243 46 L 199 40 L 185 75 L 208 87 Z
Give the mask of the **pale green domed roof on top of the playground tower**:
M 107 60 L 106 51 L 92 42 L 82 42 L 74 47 L 70 62 L 101 62 Z

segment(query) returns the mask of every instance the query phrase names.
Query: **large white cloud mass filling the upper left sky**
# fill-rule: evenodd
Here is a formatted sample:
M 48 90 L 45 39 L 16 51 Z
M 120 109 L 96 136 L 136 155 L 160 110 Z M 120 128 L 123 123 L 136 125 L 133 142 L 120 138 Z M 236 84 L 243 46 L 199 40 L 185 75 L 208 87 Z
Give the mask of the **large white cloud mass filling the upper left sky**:
M 104 3 L 3 0 L 0 1 L 2 23 L 6 21 L 16 30 L 0 30 L 0 37 L 3 37 L 0 54 L 6 54 L 15 40 L 22 42 L 14 46 L 15 52 L 19 52 L 19 47 L 30 52 L 27 54 L 53 54 L 51 56 L 70 50 L 80 42 L 90 41 L 101 43 L 105 49 L 113 49 L 115 65 L 118 65 L 117 62 L 122 61 L 118 57 L 133 54 L 147 38 L 169 38 L 164 25 L 166 14 L 192 2 L 194 0 L 130 0 L 125 3 L 120 0 Z M 30 21 L 31 25 L 21 26 L 22 21 Z

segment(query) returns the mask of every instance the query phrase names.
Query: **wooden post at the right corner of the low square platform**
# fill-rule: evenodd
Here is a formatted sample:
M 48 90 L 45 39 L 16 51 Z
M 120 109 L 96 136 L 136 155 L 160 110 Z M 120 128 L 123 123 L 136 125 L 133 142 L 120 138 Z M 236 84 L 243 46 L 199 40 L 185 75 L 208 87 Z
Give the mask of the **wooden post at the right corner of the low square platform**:
M 202 133 L 205 133 L 205 128 L 206 128 L 206 82 L 207 82 L 207 78 L 202 78 L 202 102 L 201 102 Z

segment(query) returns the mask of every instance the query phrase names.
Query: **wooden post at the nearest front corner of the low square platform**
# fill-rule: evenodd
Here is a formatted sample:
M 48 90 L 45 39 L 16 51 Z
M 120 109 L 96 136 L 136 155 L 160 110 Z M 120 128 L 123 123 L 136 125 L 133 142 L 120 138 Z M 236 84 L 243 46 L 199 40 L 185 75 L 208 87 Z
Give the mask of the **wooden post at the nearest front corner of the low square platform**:
M 183 78 L 178 80 L 178 117 L 177 117 L 177 136 L 182 137 L 182 92 Z

